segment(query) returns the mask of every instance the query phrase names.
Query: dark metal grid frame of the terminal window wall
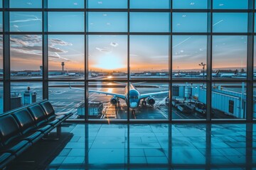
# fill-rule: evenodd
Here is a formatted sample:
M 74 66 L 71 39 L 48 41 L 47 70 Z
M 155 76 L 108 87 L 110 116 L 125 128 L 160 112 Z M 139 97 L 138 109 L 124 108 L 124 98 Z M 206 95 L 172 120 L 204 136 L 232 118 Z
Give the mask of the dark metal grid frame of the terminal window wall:
M 207 84 L 207 115 L 206 120 L 173 120 L 172 119 L 172 111 L 171 111 L 171 102 L 169 102 L 169 119 L 168 120 L 130 120 L 129 118 L 129 103 L 127 107 L 127 120 L 112 120 L 113 123 L 118 122 L 126 122 L 126 123 L 185 123 L 185 122 L 193 122 L 193 123 L 202 123 L 202 122 L 256 122 L 256 119 L 253 119 L 253 85 L 256 84 L 256 79 L 253 78 L 253 67 L 254 67 L 254 38 L 255 38 L 255 1 L 248 0 L 249 5 L 247 9 L 214 9 L 213 8 L 213 0 L 208 1 L 208 8 L 204 9 L 186 9 L 186 8 L 173 8 L 173 2 L 170 0 L 169 8 L 164 9 L 152 9 L 152 8 L 130 8 L 129 1 L 127 0 L 127 8 L 87 8 L 87 0 L 85 0 L 85 7 L 84 8 L 48 8 L 48 0 L 42 0 L 42 8 L 9 8 L 9 0 L 3 0 L 3 8 L 0 8 L 0 11 L 3 12 L 3 24 L 4 30 L 1 35 L 3 35 L 3 54 L 4 54 L 4 77 L 0 82 L 4 84 L 4 111 L 10 110 L 10 103 L 11 100 L 11 82 L 13 81 L 42 81 L 43 83 L 43 98 L 48 98 L 48 83 L 53 81 L 80 81 L 85 84 L 85 120 L 82 122 L 88 123 L 102 123 L 105 120 L 89 120 L 87 113 L 88 113 L 88 86 L 90 82 L 100 81 L 100 82 L 107 82 L 109 80 L 91 80 L 88 79 L 88 35 L 127 35 L 127 79 L 122 80 L 127 82 L 136 82 L 139 80 L 129 79 L 130 68 L 129 68 L 129 48 L 130 48 L 130 35 L 168 35 L 169 36 L 169 79 L 164 80 L 149 80 L 149 82 L 156 82 L 162 81 L 164 83 L 169 84 L 169 101 L 171 101 L 171 91 L 172 85 L 181 82 L 188 82 L 188 83 L 206 83 Z M 43 24 L 42 24 L 42 32 L 10 32 L 9 31 L 9 12 L 10 11 L 39 11 L 42 12 Z M 83 32 L 48 32 L 48 11 L 49 12 L 84 12 L 85 13 L 85 30 Z M 87 19 L 88 19 L 88 12 L 125 12 L 127 13 L 127 32 L 88 32 L 87 29 Z M 130 23 L 130 13 L 132 12 L 151 12 L 151 13 L 159 13 L 165 12 L 169 13 L 169 32 L 166 33 L 137 33 L 137 32 L 130 32 L 129 23 Z M 172 18 L 173 13 L 207 13 L 208 14 L 208 30 L 206 33 L 173 33 L 172 27 L 173 24 Z M 247 13 L 247 33 L 213 33 L 213 13 Z M 42 79 L 35 79 L 35 80 L 20 80 L 20 79 L 11 79 L 11 68 L 10 68 L 10 35 L 42 35 L 43 36 L 43 77 Z M 82 80 L 68 80 L 68 79 L 49 79 L 48 77 L 48 35 L 84 35 L 85 37 L 85 79 Z M 206 35 L 207 36 L 207 77 L 205 80 L 193 80 L 193 79 L 173 79 L 173 67 L 172 67 L 172 41 L 173 35 Z M 231 79 L 231 80 L 215 80 L 212 79 L 210 76 L 212 73 L 212 60 L 213 60 L 213 35 L 245 35 L 247 36 L 247 79 Z M 111 80 L 116 81 L 116 80 Z M 120 81 L 117 79 L 117 81 Z M 247 117 L 246 120 L 212 120 L 211 118 L 211 88 L 213 83 L 218 82 L 236 82 L 242 83 L 245 82 L 247 84 Z M 77 122 L 76 120 L 72 120 Z M 79 122 L 79 121 L 78 121 Z

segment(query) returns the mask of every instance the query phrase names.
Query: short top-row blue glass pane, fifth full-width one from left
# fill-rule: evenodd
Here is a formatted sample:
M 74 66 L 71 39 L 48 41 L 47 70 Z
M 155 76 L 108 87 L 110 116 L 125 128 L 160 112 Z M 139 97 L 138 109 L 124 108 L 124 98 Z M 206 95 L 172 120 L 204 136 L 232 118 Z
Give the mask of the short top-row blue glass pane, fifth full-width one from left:
M 173 0 L 173 8 L 207 8 L 207 0 Z

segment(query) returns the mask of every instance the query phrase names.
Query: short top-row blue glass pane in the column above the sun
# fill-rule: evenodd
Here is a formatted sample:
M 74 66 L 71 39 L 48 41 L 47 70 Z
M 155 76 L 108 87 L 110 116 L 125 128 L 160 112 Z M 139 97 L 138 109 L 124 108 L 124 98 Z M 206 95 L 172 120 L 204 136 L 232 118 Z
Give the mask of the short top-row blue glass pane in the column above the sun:
M 88 8 L 127 8 L 127 0 L 89 0 Z

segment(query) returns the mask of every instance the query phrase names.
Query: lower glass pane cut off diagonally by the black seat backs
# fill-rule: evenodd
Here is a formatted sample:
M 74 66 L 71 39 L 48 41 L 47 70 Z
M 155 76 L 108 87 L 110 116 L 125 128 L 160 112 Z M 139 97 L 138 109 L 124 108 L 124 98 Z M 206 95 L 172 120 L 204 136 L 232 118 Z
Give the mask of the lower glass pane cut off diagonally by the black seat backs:
M 42 82 L 11 82 L 11 109 L 43 100 Z

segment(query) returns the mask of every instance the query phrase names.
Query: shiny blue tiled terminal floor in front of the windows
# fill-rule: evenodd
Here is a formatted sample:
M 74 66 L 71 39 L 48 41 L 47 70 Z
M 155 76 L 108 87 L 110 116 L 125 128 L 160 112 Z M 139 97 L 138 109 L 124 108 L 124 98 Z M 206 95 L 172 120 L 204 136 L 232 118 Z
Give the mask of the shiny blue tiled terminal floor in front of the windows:
M 34 168 L 256 169 L 255 132 L 252 124 L 70 124 L 65 139 L 33 148 L 50 150 Z

